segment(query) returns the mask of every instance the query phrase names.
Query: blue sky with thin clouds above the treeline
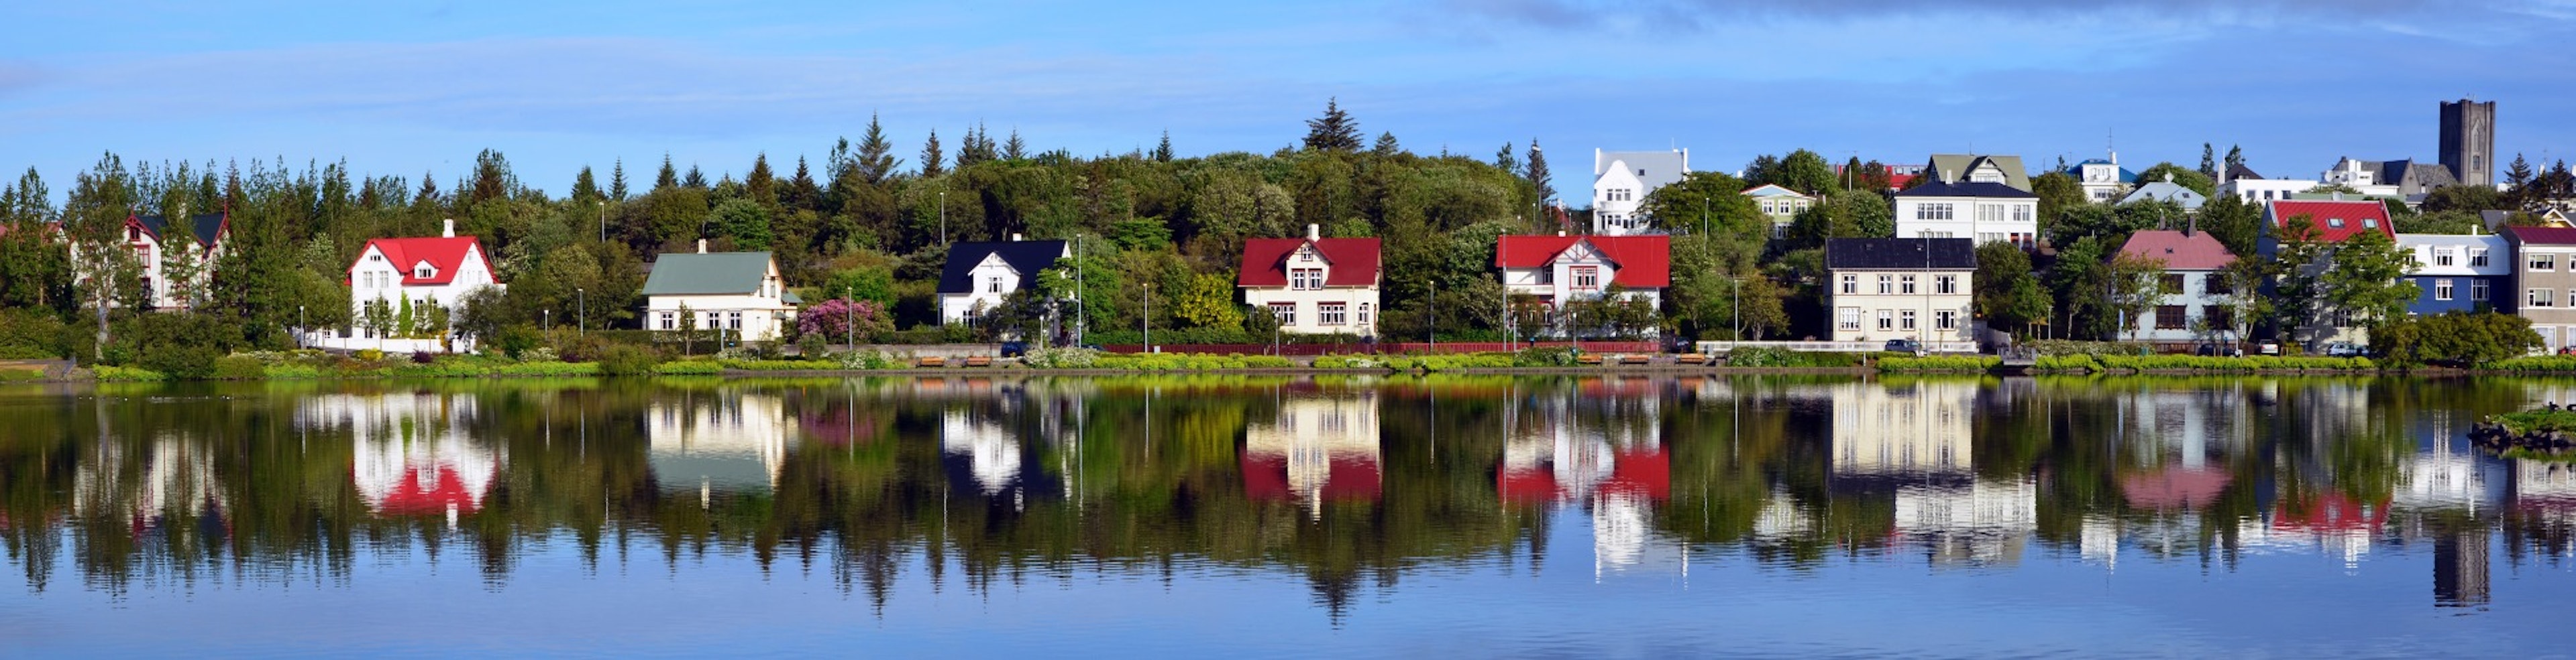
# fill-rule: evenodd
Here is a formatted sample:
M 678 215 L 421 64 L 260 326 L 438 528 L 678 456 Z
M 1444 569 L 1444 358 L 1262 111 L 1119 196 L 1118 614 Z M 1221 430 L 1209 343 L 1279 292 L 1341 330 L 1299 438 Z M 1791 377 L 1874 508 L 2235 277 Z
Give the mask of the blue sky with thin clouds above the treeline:
M 453 182 L 497 149 L 562 195 L 665 154 L 819 167 L 871 116 L 904 167 L 974 123 L 1074 154 L 1164 131 L 1185 157 L 1273 152 L 1327 100 L 1422 154 L 1535 139 L 1577 205 L 1592 149 L 2146 169 L 2215 144 L 2316 177 L 2432 162 L 2458 98 L 2496 100 L 2499 159 L 2576 157 L 2576 0 L 103 0 L 5 3 L 0 26 L 0 172 L 57 200 L 106 152 Z

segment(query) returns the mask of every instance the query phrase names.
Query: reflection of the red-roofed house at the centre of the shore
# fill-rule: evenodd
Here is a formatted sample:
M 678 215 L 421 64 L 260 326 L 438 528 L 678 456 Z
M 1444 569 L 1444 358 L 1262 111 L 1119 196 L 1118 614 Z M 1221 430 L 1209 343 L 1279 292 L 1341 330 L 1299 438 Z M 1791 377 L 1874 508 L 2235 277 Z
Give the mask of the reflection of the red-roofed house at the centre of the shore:
M 1244 496 L 1296 501 L 1309 519 L 1324 501 L 1376 501 L 1378 393 L 1298 395 L 1280 401 L 1270 421 L 1244 429 Z

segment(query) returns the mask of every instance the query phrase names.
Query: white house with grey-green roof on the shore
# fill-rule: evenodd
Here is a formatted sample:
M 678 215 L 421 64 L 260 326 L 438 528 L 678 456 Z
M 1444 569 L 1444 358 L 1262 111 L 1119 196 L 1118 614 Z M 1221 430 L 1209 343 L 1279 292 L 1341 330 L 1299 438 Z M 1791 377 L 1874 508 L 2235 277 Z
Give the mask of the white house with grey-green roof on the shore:
M 644 277 L 644 329 L 721 329 L 737 342 L 781 342 L 804 300 L 768 252 L 662 254 Z

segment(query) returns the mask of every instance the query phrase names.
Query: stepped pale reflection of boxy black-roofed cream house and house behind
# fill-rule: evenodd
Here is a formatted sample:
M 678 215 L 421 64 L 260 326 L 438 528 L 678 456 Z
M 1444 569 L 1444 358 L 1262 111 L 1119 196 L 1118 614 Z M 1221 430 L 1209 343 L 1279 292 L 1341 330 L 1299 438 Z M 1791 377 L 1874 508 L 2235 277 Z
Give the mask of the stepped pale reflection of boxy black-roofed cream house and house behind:
M 1893 542 L 1935 565 L 2020 562 L 2038 529 L 2030 478 L 1976 478 L 1976 380 L 1834 385 L 1837 496 L 1893 496 Z

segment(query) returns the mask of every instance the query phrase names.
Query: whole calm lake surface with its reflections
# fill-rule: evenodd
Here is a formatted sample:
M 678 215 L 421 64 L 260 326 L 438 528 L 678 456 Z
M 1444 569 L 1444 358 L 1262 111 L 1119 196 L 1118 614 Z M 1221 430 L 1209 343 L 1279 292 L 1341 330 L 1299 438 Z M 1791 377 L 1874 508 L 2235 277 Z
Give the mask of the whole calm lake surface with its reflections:
M 2576 380 L 0 390 L 0 655 L 2566 655 Z M 5 583 L 13 580 L 13 583 Z

